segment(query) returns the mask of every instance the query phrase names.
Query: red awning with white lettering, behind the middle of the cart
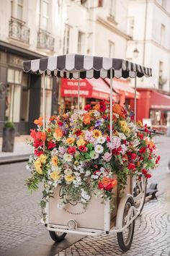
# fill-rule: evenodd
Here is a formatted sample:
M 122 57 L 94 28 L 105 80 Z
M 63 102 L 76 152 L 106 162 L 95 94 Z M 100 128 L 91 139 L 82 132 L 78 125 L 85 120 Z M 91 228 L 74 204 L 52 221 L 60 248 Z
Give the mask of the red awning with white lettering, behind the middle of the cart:
M 81 79 L 80 80 L 80 96 L 84 98 L 97 98 L 99 100 L 109 99 L 110 89 L 102 78 L 99 79 Z M 78 80 L 61 79 L 61 96 L 77 97 L 78 96 Z M 113 92 L 113 100 L 117 101 L 117 94 Z

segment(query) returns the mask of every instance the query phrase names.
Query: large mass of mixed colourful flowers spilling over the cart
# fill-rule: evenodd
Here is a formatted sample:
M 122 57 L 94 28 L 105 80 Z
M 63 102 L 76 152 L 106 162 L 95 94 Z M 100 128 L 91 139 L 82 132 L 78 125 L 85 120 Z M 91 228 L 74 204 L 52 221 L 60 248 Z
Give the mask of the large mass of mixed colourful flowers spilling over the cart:
M 159 157 L 147 128 L 145 133 L 138 132 L 133 116 L 125 108 L 113 104 L 112 109 L 112 141 L 107 101 L 94 107 L 86 105 L 81 111 L 75 109 L 62 116 L 51 116 L 45 130 L 42 117 L 35 120 L 37 131 L 32 129 L 30 133 L 35 155 L 27 163 L 31 176 L 26 184 L 32 191 L 43 182 L 42 213 L 57 186 L 62 187 L 63 204 L 70 195 L 73 202 L 79 198 L 87 205 L 92 195 L 111 199 L 113 188 L 125 187 L 130 174 L 139 179 L 141 174 L 151 177 L 149 170 L 156 167 Z

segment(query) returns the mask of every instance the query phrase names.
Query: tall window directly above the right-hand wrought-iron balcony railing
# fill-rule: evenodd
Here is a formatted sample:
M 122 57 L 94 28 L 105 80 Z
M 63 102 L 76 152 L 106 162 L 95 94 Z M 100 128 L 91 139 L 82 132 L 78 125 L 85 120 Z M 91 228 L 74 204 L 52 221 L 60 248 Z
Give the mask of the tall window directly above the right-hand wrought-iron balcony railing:
M 48 31 L 49 0 L 40 0 L 40 29 Z

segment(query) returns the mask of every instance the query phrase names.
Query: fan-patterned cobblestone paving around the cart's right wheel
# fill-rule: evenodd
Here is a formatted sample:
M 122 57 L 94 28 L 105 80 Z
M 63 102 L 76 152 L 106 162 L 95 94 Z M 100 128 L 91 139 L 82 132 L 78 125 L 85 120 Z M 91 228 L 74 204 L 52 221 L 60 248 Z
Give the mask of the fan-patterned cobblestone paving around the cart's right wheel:
M 56 256 L 65 255 L 170 255 L 170 192 L 146 203 L 142 215 L 135 221 L 133 244 L 129 252 L 122 253 L 116 235 L 86 237 Z

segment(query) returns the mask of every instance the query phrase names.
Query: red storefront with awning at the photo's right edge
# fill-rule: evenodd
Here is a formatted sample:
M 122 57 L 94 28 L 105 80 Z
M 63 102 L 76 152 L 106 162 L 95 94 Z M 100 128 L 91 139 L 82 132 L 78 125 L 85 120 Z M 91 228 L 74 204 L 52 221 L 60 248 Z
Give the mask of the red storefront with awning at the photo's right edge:
M 166 127 L 170 116 L 170 95 L 156 89 L 138 88 L 138 92 L 137 119 L 151 119 L 153 127 Z

